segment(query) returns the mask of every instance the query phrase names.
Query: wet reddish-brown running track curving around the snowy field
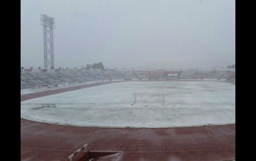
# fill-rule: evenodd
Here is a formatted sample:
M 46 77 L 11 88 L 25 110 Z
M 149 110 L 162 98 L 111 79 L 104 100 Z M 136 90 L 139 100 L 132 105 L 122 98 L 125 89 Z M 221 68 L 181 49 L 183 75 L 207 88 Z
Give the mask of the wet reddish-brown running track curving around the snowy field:
M 106 84 L 101 82 L 21 95 L 21 101 Z M 122 161 L 235 159 L 235 124 L 186 128 L 87 128 L 21 119 L 21 160 L 67 161 L 84 144 L 94 152 L 120 152 Z M 75 157 L 73 159 L 75 161 Z

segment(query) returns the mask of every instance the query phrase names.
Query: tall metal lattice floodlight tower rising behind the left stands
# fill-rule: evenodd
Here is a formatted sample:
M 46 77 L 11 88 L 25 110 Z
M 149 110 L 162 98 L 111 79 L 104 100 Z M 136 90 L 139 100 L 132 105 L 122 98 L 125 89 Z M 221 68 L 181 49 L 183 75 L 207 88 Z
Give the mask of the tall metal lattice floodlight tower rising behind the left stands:
M 41 25 L 44 27 L 44 58 L 45 68 L 48 66 L 54 69 L 53 55 L 53 29 L 55 28 L 54 18 L 41 14 Z

